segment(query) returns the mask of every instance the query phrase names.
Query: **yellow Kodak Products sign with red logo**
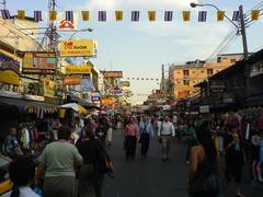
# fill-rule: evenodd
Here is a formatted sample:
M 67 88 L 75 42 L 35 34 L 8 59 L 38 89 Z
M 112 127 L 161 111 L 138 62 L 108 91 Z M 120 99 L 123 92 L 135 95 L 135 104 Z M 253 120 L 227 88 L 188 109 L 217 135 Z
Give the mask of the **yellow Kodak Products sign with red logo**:
M 93 39 L 69 39 L 61 42 L 60 56 L 62 57 L 94 57 L 96 42 Z

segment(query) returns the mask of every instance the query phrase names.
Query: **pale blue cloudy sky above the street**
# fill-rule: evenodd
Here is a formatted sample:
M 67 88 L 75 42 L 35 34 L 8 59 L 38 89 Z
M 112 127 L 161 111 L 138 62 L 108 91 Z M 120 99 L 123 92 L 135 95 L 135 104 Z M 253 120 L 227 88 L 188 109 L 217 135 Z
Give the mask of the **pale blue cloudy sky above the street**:
M 233 28 L 225 20 L 216 21 L 213 8 L 190 8 L 190 2 L 213 3 L 226 11 L 229 18 L 242 4 L 244 12 L 250 11 L 262 0 L 57 0 L 57 11 L 91 11 L 89 22 L 79 21 L 78 28 L 93 28 L 91 33 L 78 33 L 75 38 L 94 38 L 99 43 L 98 57 L 91 59 L 96 68 L 122 70 L 124 78 L 161 78 L 161 65 L 183 63 L 195 59 L 206 59 L 224 37 Z M 263 3 L 262 3 L 263 4 Z M 11 13 L 25 10 L 47 11 L 47 0 L 7 0 Z M 98 22 L 98 11 L 107 11 L 107 22 Z M 124 21 L 114 21 L 114 11 L 124 11 Z M 139 10 L 140 22 L 130 22 L 130 11 Z M 157 21 L 147 21 L 147 11 L 157 11 Z M 190 10 L 191 22 L 182 22 L 182 11 Z M 207 22 L 197 22 L 197 11 L 207 11 Z M 172 22 L 163 21 L 164 11 L 175 11 Z M 247 28 L 249 51 L 263 48 L 263 19 Z M 70 33 L 61 33 L 69 37 Z M 241 36 L 230 45 L 226 53 L 242 53 Z M 124 80 L 125 80 L 124 79 Z M 132 81 L 136 96 L 133 102 L 146 100 L 157 81 Z

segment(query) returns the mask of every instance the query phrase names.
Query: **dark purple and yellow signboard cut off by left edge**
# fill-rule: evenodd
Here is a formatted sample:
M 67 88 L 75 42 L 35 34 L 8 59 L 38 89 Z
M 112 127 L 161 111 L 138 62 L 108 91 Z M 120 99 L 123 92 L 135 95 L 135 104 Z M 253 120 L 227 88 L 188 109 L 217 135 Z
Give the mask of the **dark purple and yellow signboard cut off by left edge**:
M 20 63 L 12 58 L 0 54 L 0 82 L 19 85 Z

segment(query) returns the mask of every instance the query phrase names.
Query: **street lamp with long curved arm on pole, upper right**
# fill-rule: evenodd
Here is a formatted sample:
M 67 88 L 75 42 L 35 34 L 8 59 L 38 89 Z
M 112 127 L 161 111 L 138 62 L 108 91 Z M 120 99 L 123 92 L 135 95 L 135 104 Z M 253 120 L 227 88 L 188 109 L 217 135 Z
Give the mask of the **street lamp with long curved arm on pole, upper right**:
M 196 7 L 213 7 L 214 9 L 216 9 L 217 11 L 220 11 L 220 9 L 218 7 L 216 7 L 215 4 L 210 4 L 210 3 L 190 3 L 190 5 L 192 8 L 196 8 Z M 243 14 L 243 7 L 240 5 L 239 7 L 239 11 L 240 11 L 240 27 L 232 22 L 232 20 L 230 20 L 226 14 L 224 14 L 224 16 L 235 26 L 235 28 L 237 30 L 237 34 L 240 33 L 241 31 L 241 35 L 242 35 L 242 42 L 243 42 L 243 58 L 247 59 L 248 58 L 248 43 L 247 43 L 247 34 L 245 34 L 245 24 L 244 24 L 244 14 Z

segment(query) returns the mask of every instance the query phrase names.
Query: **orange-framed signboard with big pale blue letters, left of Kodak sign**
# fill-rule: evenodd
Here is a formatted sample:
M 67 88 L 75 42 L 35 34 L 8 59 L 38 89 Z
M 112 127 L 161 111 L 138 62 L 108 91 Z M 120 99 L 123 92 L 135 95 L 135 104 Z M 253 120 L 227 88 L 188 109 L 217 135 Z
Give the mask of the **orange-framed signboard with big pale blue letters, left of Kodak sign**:
M 56 54 L 26 51 L 23 57 L 22 72 L 26 74 L 55 74 Z

